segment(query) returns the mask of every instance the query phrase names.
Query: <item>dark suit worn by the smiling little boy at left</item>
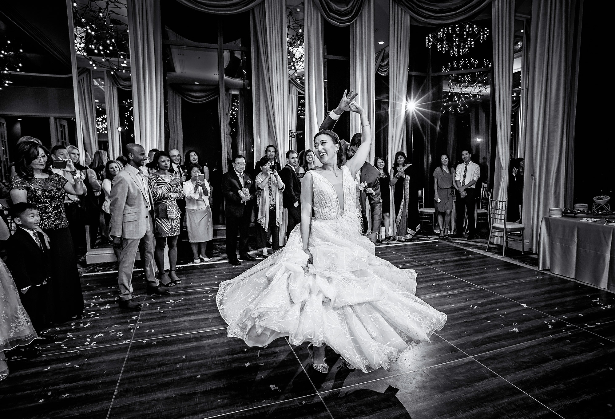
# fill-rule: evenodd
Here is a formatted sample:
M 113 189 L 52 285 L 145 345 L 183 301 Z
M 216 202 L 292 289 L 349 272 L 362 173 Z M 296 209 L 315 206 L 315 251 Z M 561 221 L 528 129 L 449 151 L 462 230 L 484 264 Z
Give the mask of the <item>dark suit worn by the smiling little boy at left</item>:
M 30 316 L 34 329 L 41 332 L 46 329 L 52 312 L 49 284 L 43 284 L 45 281 L 47 283 L 51 281 L 51 260 L 42 233 L 36 233 L 42 249 L 30 233 L 17 227 L 15 233 L 7 240 L 7 265 L 19 290 L 23 308 Z M 22 289 L 28 286 L 30 288 L 23 292 Z

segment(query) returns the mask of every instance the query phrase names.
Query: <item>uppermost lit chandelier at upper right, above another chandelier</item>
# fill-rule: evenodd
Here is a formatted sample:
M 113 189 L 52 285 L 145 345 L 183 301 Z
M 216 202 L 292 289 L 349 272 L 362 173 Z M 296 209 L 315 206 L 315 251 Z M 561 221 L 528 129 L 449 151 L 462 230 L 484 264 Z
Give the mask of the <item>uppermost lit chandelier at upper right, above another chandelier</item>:
M 435 44 L 438 51 L 451 57 L 466 54 L 470 47 L 474 47 L 475 41 L 483 42 L 489 35 L 489 29 L 480 28 L 474 23 L 458 23 L 448 28 L 440 28 L 426 36 L 427 48 Z

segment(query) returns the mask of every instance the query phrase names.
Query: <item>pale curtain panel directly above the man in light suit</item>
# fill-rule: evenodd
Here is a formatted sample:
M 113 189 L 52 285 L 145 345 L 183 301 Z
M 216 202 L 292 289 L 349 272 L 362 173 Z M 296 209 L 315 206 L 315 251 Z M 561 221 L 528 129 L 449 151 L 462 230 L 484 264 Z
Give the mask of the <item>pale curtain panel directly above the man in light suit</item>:
M 162 27 L 159 0 L 128 0 L 135 143 L 164 149 Z

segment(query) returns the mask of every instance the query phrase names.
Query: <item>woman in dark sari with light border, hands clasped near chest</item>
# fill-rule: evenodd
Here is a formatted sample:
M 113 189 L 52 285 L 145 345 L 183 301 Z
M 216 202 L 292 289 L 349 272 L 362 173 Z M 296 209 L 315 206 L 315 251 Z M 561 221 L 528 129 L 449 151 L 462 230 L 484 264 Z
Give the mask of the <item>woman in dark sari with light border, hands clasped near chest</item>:
M 397 241 L 412 240 L 421 229 L 418 206 L 418 186 L 414 166 L 407 162 L 406 154 L 395 154 L 391 168 L 391 186 L 394 186 L 395 237 Z

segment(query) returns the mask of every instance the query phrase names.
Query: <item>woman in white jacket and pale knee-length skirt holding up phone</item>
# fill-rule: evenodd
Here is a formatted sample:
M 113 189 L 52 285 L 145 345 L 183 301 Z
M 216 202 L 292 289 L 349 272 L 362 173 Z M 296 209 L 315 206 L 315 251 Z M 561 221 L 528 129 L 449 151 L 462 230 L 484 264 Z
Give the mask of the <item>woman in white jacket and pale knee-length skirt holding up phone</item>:
M 188 181 L 183 184 L 186 198 L 186 229 L 194 264 L 209 261 L 209 258 L 203 255 L 207 242 L 213 238 L 212 187 L 205 179 L 202 170 L 202 166 L 198 163 L 191 163 L 186 176 Z

